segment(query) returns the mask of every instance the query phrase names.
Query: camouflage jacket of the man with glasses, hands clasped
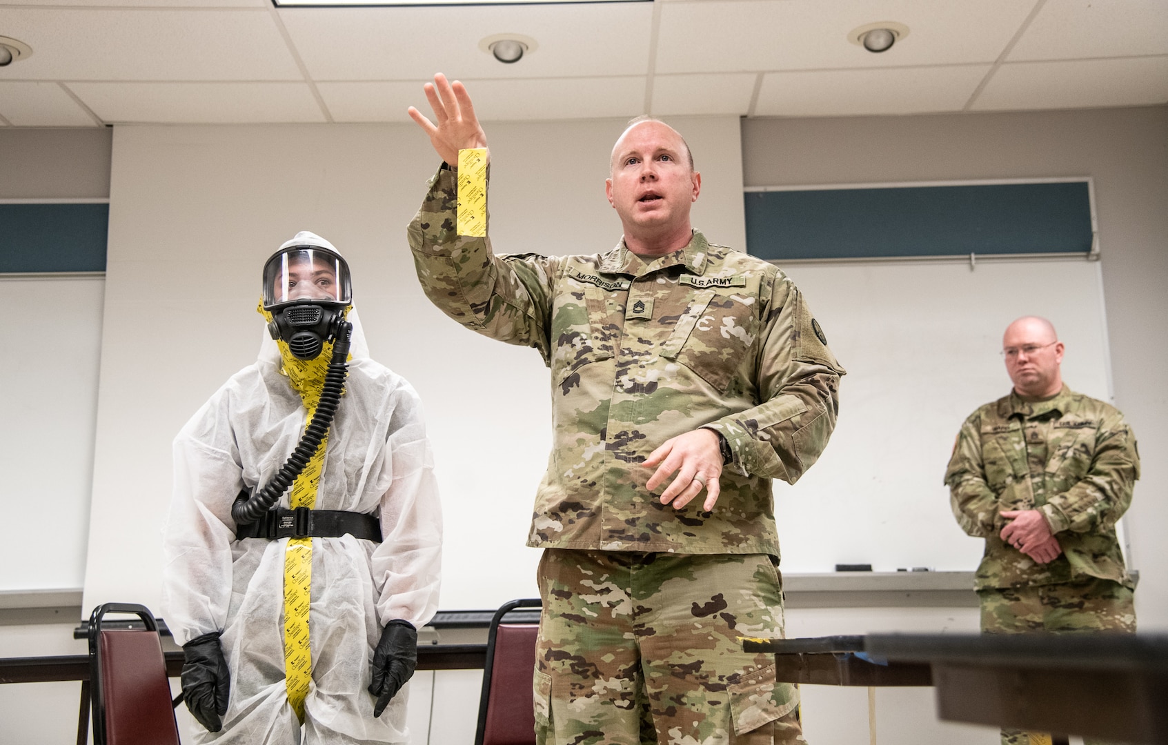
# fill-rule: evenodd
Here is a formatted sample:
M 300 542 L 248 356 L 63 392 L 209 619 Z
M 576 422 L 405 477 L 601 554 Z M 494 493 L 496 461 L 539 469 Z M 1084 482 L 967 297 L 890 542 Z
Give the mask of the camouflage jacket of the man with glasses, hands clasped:
M 1140 478 L 1135 437 L 1114 406 L 1063 387 L 1027 402 L 1011 392 L 961 425 L 945 473 L 958 523 L 986 538 L 976 586 L 1017 587 L 1091 577 L 1132 587 L 1115 521 Z M 1038 509 L 1063 552 L 1048 564 L 1001 539 L 1000 510 Z

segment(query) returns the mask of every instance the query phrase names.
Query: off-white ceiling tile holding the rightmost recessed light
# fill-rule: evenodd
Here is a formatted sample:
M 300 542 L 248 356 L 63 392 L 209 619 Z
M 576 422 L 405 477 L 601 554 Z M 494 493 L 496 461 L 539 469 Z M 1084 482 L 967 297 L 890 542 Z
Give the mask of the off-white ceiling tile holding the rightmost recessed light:
M 1034 0 L 700 0 L 661 6 L 656 72 L 881 68 L 993 62 Z M 909 34 L 872 54 L 853 29 L 896 21 Z

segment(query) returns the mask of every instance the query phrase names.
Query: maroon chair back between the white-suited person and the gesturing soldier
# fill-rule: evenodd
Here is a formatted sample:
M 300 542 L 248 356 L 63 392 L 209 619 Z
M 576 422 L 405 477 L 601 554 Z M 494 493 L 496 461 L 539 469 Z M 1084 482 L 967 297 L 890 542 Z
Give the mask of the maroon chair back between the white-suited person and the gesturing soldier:
M 491 620 L 475 745 L 535 745 L 531 676 L 540 627 L 503 622 L 507 613 L 524 607 L 540 607 L 538 598 L 506 603 Z

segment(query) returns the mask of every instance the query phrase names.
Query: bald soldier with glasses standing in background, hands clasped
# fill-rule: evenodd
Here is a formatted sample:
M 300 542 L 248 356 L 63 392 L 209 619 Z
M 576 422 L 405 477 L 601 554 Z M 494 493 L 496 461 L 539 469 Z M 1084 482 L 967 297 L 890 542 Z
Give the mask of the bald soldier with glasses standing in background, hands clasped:
M 1140 476 L 1135 437 L 1113 406 L 1063 384 L 1050 321 L 1021 318 L 1002 343 L 1014 390 L 965 420 L 945 473 L 958 523 L 986 538 L 981 628 L 1134 632 L 1115 522 Z M 1030 741 L 1002 730 L 1003 745 Z

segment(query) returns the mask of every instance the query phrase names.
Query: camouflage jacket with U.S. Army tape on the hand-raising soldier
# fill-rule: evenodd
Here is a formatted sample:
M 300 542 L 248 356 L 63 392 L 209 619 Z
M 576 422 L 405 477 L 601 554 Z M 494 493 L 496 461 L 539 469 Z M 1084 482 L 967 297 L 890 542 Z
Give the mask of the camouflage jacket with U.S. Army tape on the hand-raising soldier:
M 445 168 L 409 227 L 418 279 L 475 332 L 535 347 L 551 369 L 554 446 L 528 545 L 778 556 L 771 479 L 794 482 L 835 426 L 843 370 L 773 265 L 695 231 L 642 260 L 500 255 L 456 235 Z M 665 507 L 640 464 L 698 427 L 734 452 L 712 513 Z

